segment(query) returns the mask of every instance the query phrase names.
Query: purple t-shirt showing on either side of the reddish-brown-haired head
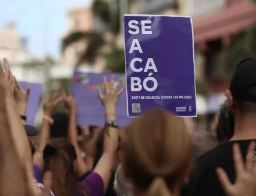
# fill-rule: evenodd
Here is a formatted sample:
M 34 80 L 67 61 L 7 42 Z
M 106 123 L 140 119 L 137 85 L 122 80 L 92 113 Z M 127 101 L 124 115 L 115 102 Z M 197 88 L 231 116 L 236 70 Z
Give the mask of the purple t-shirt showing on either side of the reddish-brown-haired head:
M 41 181 L 41 170 L 40 168 L 34 164 L 34 176 L 35 179 L 40 182 Z M 90 196 L 104 196 L 104 185 L 102 178 L 98 175 L 98 173 L 91 173 L 85 179 L 83 179 L 82 183 L 87 186 L 90 192 Z M 76 190 L 75 196 L 83 196 L 79 190 Z

